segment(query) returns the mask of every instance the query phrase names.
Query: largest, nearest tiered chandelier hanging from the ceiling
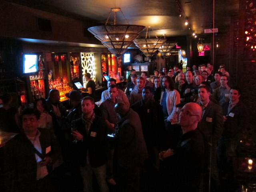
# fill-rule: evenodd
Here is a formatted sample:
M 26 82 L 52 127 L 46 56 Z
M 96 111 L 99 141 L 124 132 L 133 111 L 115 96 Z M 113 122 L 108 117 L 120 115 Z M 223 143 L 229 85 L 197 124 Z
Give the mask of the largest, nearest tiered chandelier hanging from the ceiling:
M 116 24 L 116 12 L 120 11 L 124 16 L 120 8 L 112 8 L 106 23 L 103 26 L 95 26 L 88 28 L 88 31 L 94 34 L 94 36 L 104 44 L 110 52 L 116 56 L 120 56 L 128 47 L 132 44 L 133 40 L 137 38 L 144 30 L 145 26 Z M 110 14 L 114 12 L 114 24 L 108 24 Z M 124 16 L 125 18 L 125 16 Z M 126 18 L 125 18 L 126 19 Z

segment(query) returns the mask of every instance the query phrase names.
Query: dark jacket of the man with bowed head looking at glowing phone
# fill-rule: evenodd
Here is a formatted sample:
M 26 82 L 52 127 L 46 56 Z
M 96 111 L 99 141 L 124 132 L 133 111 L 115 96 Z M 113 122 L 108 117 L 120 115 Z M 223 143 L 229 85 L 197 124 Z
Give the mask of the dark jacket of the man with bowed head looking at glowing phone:
M 148 158 L 140 117 L 132 109 L 118 124 L 114 162 L 121 167 L 139 167 Z

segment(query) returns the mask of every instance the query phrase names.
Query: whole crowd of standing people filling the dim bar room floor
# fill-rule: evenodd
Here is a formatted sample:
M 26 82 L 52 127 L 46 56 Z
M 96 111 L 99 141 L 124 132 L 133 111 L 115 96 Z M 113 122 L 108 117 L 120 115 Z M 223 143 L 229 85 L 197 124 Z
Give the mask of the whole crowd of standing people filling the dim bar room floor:
M 234 191 L 247 110 L 225 67 L 148 77 L 132 70 L 125 92 L 110 78 L 99 107 L 72 90 L 66 110 L 52 89 L 20 118 L 12 97 L 1 96 L 0 130 L 18 133 L 1 148 L 1 191 L 220 192 L 220 178 Z

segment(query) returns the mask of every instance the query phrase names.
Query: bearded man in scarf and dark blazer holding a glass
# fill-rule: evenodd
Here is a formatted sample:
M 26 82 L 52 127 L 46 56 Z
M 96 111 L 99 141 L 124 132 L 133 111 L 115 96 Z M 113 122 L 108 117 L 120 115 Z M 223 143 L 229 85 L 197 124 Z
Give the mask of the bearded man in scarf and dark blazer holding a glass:
M 82 99 L 82 117 L 73 122 L 77 128 L 72 135 L 77 142 L 77 158 L 84 191 L 92 190 L 92 175 L 96 176 L 100 192 L 108 192 L 106 182 L 106 127 L 104 120 L 94 114 L 94 99 Z

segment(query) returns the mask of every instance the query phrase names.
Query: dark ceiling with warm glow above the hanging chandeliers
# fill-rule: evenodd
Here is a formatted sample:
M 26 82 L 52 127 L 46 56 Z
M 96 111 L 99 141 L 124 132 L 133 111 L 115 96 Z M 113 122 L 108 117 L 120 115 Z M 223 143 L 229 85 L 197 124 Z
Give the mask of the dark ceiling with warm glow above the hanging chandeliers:
M 226 32 L 230 17 L 238 16 L 238 0 L 7 0 L 47 12 L 60 14 L 90 23 L 90 26 L 104 24 L 110 8 L 119 7 L 129 24 L 150 26 L 160 37 L 204 34 L 204 29 L 218 28 Z M 180 5 L 180 6 L 179 6 Z M 185 26 L 182 8 L 188 18 Z M 215 20 L 213 22 L 213 10 Z M 113 20 L 113 15 L 110 21 Z M 120 12 L 117 12 L 117 23 L 126 24 Z M 189 29 L 190 28 L 190 29 Z M 141 34 L 144 36 L 145 32 Z M 154 33 L 150 32 L 150 36 Z

